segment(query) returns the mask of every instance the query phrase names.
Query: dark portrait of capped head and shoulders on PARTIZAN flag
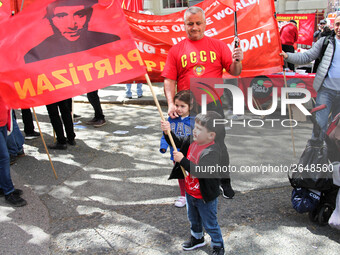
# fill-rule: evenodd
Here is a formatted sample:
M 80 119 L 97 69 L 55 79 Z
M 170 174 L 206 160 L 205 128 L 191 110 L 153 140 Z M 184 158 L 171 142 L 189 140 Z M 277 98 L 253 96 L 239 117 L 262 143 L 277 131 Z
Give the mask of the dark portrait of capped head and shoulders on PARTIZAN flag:
M 97 0 L 57 0 L 46 8 L 53 35 L 25 55 L 25 63 L 88 50 L 119 40 L 114 34 L 88 30 Z

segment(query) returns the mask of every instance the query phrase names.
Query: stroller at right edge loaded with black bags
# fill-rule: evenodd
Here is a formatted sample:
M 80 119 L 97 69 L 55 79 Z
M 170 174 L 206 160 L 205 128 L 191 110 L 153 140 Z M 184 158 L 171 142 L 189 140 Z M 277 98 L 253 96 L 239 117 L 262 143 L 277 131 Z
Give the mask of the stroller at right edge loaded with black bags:
M 315 113 L 325 107 L 326 105 L 320 105 L 311 110 L 310 119 L 313 123 L 315 138 L 308 140 L 298 163 L 298 171 L 291 169 L 288 174 L 290 183 L 294 188 L 292 192 L 294 209 L 299 213 L 308 212 L 309 219 L 320 225 L 327 225 L 335 209 L 339 189 L 338 186 L 333 184 L 333 165 L 329 162 L 340 161 L 340 142 L 337 146 L 337 140 L 334 139 L 337 128 L 340 133 L 340 125 L 338 127 L 340 114 L 329 125 L 326 137 L 323 139 Z M 316 166 L 319 166 L 319 168 L 316 169 Z M 314 171 L 312 171 L 313 169 Z

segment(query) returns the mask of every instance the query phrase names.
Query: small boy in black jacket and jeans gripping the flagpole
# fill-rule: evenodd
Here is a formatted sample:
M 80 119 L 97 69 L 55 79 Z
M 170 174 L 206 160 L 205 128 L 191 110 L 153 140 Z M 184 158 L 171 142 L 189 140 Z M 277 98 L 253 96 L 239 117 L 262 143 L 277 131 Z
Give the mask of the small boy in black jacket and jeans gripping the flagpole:
M 207 114 L 198 114 L 195 118 L 193 142 L 190 137 L 180 138 L 173 135 L 176 147 L 180 152 L 174 151 L 174 161 L 177 162 L 170 179 L 181 175 L 180 166 L 188 172 L 185 177 L 185 190 L 187 200 L 188 219 L 190 221 L 191 238 L 182 244 L 183 250 L 193 250 L 205 245 L 203 227 L 211 237 L 213 254 L 224 254 L 222 233 L 217 222 L 217 204 L 220 194 L 218 178 L 197 178 L 193 174 L 197 168 L 216 166 L 221 162 L 221 149 L 219 143 L 224 140 L 224 126 L 214 126 L 214 119 L 222 117 L 212 111 Z M 162 130 L 170 130 L 169 122 L 162 121 Z M 170 144 L 170 142 L 169 142 Z M 186 157 L 185 157 L 186 155 Z M 217 177 L 217 176 L 215 176 Z

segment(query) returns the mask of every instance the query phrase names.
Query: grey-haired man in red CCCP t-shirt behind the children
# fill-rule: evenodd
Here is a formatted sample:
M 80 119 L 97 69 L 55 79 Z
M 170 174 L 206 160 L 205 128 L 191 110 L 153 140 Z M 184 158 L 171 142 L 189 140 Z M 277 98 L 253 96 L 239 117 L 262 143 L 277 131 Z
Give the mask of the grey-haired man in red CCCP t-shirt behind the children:
M 187 38 L 170 49 L 162 73 L 165 78 L 164 92 L 168 102 L 168 114 L 171 118 L 178 117 L 174 104 L 176 83 L 178 92 L 190 89 L 190 78 L 222 78 L 223 69 L 234 76 L 238 76 L 242 71 L 241 48 L 234 48 L 231 52 L 222 41 L 204 35 L 206 20 L 201 8 L 193 6 L 186 10 L 184 27 Z M 222 107 L 217 111 L 224 117 Z M 229 165 L 226 146 L 222 150 L 225 162 Z M 225 198 L 234 196 L 229 178 L 221 180 L 221 188 Z

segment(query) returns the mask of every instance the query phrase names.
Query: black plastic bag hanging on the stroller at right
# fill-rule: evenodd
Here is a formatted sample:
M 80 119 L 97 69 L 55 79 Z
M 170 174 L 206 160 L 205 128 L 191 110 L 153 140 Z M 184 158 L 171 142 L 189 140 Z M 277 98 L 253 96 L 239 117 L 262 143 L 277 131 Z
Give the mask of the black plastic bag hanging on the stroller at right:
M 328 162 L 326 142 L 310 139 L 299 163 L 292 165 L 288 173 L 294 188 L 328 190 L 333 185 L 332 165 Z

